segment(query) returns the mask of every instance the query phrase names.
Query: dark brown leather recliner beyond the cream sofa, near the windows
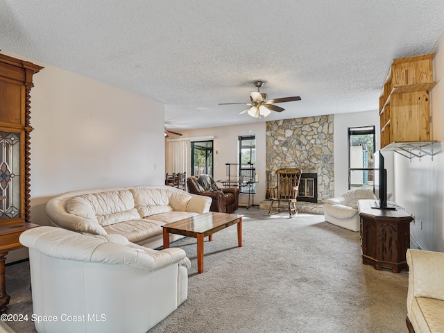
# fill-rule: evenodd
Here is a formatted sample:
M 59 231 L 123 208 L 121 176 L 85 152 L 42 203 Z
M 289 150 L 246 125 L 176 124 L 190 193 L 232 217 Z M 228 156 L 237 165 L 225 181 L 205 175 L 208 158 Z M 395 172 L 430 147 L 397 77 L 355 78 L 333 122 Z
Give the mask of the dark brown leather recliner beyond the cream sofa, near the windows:
M 210 196 L 213 199 L 210 211 L 232 213 L 239 207 L 239 189 L 237 187 L 219 188 L 209 175 L 187 178 L 188 191 L 191 194 Z

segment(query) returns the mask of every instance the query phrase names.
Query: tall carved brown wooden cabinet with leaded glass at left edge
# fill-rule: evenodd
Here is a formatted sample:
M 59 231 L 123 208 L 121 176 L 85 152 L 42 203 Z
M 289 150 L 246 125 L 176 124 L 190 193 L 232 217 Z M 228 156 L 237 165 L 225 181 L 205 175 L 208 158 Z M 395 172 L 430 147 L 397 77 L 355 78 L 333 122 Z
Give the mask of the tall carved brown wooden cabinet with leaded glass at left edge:
M 30 133 L 33 75 L 43 67 L 0 54 L 0 312 L 10 297 L 5 256 L 21 248 L 19 236 L 37 225 L 30 217 Z

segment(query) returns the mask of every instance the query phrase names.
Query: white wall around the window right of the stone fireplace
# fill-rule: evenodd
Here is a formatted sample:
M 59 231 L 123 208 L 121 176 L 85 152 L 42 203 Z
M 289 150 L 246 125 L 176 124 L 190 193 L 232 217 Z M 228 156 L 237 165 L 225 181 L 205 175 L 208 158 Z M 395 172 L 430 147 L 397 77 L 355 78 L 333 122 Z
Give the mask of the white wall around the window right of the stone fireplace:
M 376 147 L 379 147 L 379 112 L 353 112 L 334 114 L 334 195 L 348 191 L 348 128 L 376 126 Z M 389 187 L 392 188 L 392 187 Z

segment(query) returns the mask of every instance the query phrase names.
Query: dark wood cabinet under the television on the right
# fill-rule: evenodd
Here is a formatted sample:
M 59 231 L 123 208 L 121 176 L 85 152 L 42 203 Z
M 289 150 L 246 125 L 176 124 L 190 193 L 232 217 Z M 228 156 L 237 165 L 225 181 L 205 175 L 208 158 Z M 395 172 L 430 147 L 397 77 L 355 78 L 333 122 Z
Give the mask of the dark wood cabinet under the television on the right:
M 393 273 L 407 269 L 410 248 L 410 222 L 413 218 L 402 208 L 375 210 L 375 200 L 359 200 L 362 263 L 375 269 L 390 268 Z

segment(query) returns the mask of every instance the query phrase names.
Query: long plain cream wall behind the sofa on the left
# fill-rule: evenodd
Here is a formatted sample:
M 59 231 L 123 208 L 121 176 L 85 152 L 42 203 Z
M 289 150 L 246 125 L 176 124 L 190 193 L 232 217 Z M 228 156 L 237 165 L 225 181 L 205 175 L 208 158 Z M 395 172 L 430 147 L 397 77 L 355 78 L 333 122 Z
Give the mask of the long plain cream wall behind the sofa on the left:
M 46 202 L 66 191 L 164 183 L 162 103 L 2 53 L 44 67 L 31 90 L 32 223 L 47 225 Z

